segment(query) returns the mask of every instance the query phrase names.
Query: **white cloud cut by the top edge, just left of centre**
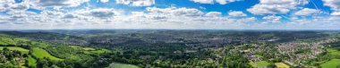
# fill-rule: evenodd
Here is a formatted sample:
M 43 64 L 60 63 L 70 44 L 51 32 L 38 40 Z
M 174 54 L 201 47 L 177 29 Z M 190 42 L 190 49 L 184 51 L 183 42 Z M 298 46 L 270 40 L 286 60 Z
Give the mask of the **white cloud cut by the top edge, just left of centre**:
M 116 4 L 129 4 L 132 6 L 149 6 L 155 4 L 155 0 L 115 0 Z

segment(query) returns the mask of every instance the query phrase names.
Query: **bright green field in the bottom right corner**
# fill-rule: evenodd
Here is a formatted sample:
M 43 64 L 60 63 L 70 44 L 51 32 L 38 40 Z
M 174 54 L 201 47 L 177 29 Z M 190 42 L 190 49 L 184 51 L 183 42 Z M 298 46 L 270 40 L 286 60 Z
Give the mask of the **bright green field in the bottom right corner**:
M 337 65 L 340 65 L 340 59 L 332 59 L 325 64 L 321 64 L 322 68 L 336 68 Z

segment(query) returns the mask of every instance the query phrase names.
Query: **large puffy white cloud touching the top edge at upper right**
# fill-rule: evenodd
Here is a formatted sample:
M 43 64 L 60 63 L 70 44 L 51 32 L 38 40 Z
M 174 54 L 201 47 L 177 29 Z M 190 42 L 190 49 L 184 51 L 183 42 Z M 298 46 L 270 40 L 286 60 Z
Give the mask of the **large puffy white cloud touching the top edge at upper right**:
M 289 13 L 297 5 L 307 3 L 305 0 L 259 0 L 259 4 L 255 4 L 247 11 L 253 14 Z

